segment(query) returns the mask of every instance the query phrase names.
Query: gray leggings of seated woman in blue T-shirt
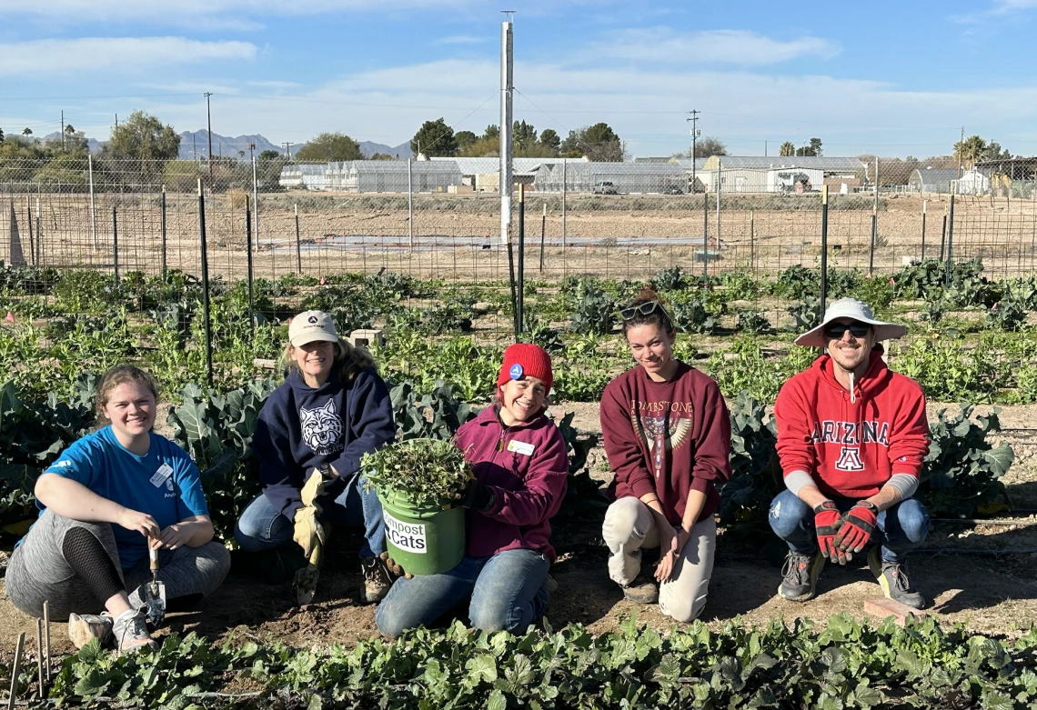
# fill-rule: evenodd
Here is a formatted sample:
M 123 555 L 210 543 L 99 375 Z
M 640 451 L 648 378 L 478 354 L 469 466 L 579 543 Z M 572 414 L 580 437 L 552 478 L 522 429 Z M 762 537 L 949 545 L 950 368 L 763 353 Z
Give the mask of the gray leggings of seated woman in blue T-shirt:
M 104 599 L 95 599 L 83 579 L 76 575 L 64 558 L 64 536 L 74 528 L 83 528 L 104 545 L 109 558 L 130 593 L 130 605 L 140 607 L 140 586 L 150 581 L 147 558 L 130 569 L 119 565 L 112 527 L 107 522 L 83 522 L 44 511 L 25 536 L 7 565 L 7 596 L 11 603 L 33 617 L 44 615 L 44 601 L 50 601 L 51 619 L 63 621 L 72 613 L 99 614 Z M 159 550 L 159 579 L 166 584 L 166 599 L 193 594 L 207 596 L 216 591 L 230 570 L 230 552 L 223 545 L 206 542 L 200 547 Z

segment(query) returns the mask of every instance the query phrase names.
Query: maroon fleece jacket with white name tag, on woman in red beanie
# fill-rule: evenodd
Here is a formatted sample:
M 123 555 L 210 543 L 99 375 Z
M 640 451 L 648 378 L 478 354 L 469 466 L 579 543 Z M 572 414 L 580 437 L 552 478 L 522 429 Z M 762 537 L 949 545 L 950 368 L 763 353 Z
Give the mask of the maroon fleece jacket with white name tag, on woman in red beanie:
M 468 511 L 468 549 L 489 557 L 535 549 L 555 561 L 549 520 L 565 498 L 568 456 L 562 432 L 544 415 L 506 427 L 491 405 L 457 430 L 454 444 L 475 477 L 494 490 L 489 510 Z

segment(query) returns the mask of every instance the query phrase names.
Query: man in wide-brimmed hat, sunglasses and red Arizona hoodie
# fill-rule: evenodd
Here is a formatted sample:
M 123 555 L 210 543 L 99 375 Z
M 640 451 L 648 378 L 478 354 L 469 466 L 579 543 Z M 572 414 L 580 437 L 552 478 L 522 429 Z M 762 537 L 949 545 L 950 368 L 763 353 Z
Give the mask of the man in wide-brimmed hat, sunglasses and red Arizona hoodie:
M 925 397 L 918 382 L 886 367 L 878 344 L 904 333 L 866 304 L 840 299 L 795 341 L 825 352 L 775 403 L 787 490 L 768 517 L 789 546 L 778 589 L 786 599 L 814 597 L 825 558 L 844 565 L 867 549 L 887 597 L 925 605 L 906 566 L 929 532 L 925 507 L 912 498 L 929 450 Z

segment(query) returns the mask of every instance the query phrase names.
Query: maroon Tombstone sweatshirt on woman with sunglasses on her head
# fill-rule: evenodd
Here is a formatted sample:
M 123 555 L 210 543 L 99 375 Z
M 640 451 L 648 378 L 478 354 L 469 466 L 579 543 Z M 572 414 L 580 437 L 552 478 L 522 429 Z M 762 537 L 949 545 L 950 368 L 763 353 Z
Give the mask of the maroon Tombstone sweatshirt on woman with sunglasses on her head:
M 665 382 L 635 367 L 605 388 L 600 413 L 614 498 L 654 491 L 673 526 L 692 489 L 706 493 L 699 520 L 717 512 L 716 484 L 731 477 L 731 420 L 717 382 L 684 363 Z

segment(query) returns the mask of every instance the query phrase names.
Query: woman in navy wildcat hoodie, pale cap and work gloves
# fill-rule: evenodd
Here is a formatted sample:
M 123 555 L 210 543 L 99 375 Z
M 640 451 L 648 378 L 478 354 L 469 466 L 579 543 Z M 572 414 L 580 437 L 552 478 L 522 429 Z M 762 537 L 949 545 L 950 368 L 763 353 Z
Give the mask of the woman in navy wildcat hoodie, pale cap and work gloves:
M 364 596 L 376 602 L 392 577 L 379 557 L 386 550 L 382 504 L 359 472 L 364 454 L 396 436 L 389 390 L 370 354 L 339 340 L 320 311 L 292 318 L 284 360 L 288 376 L 263 404 L 252 439 L 264 488 L 234 537 L 250 551 L 295 541 L 309 557 L 327 526 L 361 526 Z

